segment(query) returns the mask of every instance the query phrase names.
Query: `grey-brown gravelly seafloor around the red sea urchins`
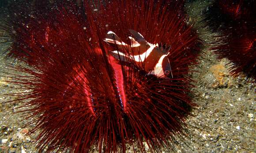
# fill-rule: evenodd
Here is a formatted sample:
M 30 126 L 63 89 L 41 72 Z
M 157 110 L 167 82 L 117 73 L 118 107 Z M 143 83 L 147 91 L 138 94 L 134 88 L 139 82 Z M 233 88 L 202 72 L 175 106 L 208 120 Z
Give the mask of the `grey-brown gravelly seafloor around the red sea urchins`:
M 196 0 L 187 3 L 188 14 L 195 18 L 200 15 L 207 1 Z M 205 30 L 205 42 L 209 42 L 215 33 Z M 6 46 L 0 46 L 0 49 Z M 256 85 L 246 77 L 230 76 L 229 61 L 217 59 L 204 47 L 200 55 L 200 64 L 196 66 L 192 78 L 195 80 L 194 102 L 198 107 L 192 109 L 186 136 L 177 138 L 173 150 L 162 153 L 255 153 L 255 100 Z M 6 63 L 14 62 L 5 55 L 0 56 L 0 72 L 8 72 Z M 19 90 L 0 76 L 0 102 L 13 100 L 15 97 L 5 94 Z M 29 120 L 24 120 L 21 113 L 15 113 L 21 103 L 0 103 L 0 153 L 38 153 L 33 142 L 37 133 L 26 135 L 34 124 L 23 127 Z M 147 152 L 148 146 L 145 143 Z M 43 152 L 47 150 L 47 147 Z M 133 153 L 132 147 L 127 153 Z

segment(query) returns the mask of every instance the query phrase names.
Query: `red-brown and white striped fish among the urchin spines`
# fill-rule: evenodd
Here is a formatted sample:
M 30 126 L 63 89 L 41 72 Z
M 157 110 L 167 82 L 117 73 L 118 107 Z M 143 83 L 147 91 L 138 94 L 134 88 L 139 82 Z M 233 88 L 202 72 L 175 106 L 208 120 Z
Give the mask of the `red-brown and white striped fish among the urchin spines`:
M 148 74 L 157 77 L 173 77 L 170 62 L 168 59 L 170 46 L 162 45 L 162 43 L 148 43 L 144 37 L 135 30 L 129 29 L 132 36 L 131 45 L 124 43 L 115 33 L 109 31 L 106 34 L 105 42 L 113 45 L 117 50 L 110 53 L 118 60 L 129 62 L 133 60 L 139 66 L 142 66 Z M 121 52 L 121 51 L 125 51 Z

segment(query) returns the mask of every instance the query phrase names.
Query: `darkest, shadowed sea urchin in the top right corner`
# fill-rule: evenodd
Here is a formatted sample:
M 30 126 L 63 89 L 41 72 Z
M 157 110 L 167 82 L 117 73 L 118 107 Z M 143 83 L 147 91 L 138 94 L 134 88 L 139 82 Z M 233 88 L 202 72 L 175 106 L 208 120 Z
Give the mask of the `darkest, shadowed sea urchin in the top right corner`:
M 254 0 L 213 0 L 204 10 L 203 20 L 214 32 L 252 27 L 255 25 L 254 7 Z

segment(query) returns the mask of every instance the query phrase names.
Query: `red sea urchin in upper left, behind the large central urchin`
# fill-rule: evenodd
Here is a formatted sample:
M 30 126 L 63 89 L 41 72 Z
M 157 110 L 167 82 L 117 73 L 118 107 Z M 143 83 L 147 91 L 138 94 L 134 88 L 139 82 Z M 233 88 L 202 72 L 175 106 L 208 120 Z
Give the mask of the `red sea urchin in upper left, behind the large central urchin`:
M 53 4 L 54 1 L 54 4 Z M 76 7 L 75 4 L 63 0 L 19 0 L 9 2 L 7 8 L 2 9 L 0 18 L 1 44 L 10 44 L 5 49 L 9 56 L 32 64 L 38 56 L 30 56 L 28 52 L 34 52 L 31 45 L 47 41 L 49 26 L 47 19 L 53 18 L 54 10 L 60 7 Z M 37 37 L 37 39 L 35 39 Z M 40 38 L 39 38 L 40 37 Z M 38 41 L 38 42 L 36 42 Z M 26 50 L 26 51 L 24 51 Z

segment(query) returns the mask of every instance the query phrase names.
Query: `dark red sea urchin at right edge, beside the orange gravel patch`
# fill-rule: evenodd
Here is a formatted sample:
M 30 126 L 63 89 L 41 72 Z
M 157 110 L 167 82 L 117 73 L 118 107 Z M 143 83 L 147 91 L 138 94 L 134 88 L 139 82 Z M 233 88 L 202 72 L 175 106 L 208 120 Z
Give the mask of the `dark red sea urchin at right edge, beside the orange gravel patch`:
M 233 32 L 217 37 L 211 49 L 218 58 L 227 58 L 230 62 L 231 75 L 256 78 L 256 31 L 251 33 Z

